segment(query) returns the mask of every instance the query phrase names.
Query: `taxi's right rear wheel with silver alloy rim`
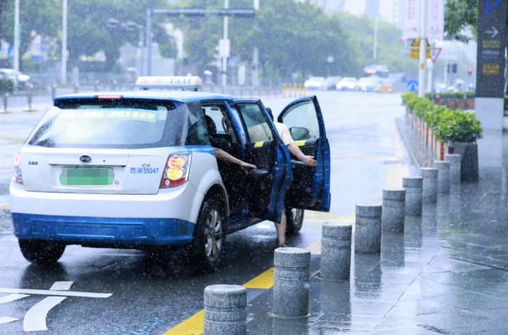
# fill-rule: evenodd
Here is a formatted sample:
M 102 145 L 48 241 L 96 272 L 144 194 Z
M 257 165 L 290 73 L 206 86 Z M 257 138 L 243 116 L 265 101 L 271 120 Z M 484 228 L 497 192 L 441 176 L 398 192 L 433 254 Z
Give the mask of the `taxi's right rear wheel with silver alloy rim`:
M 225 240 L 224 203 L 219 196 L 205 199 L 199 211 L 194 236 L 194 257 L 196 264 L 205 272 L 217 271 Z

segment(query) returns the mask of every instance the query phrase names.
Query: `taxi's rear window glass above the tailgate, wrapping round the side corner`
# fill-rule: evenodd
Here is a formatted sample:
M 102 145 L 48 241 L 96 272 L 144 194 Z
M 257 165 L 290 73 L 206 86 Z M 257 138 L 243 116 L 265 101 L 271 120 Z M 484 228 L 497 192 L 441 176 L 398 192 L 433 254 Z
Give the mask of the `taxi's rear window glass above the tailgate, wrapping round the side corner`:
M 138 149 L 209 144 L 199 103 L 155 99 L 61 99 L 29 137 L 40 147 Z

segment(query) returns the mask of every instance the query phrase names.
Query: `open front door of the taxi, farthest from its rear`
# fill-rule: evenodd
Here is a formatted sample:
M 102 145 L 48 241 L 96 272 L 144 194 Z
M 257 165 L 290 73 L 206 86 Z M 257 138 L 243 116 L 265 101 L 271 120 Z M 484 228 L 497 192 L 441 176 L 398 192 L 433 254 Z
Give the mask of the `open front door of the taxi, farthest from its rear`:
M 318 161 L 318 166 L 313 168 L 292 158 L 293 182 L 286 195 L 286 205 L 329 212 L 330 146 L 318 99 L 313 96 L 293 101 L 284 108 L 278 121 L 288 126 L 301 151 Z

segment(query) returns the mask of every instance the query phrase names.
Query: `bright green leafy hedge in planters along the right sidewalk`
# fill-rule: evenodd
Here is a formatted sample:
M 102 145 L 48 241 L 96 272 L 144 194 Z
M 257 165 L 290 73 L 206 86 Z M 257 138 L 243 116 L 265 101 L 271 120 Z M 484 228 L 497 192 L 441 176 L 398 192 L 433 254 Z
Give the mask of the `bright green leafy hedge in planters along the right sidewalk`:
M 402 101 L 411 114 L 427 123 L 437 140 L 470 143 L 482 137 L 480 121 L 470 112 L 437 106 L 430 99 L 419 98 L 416 92 L 404 93 Z

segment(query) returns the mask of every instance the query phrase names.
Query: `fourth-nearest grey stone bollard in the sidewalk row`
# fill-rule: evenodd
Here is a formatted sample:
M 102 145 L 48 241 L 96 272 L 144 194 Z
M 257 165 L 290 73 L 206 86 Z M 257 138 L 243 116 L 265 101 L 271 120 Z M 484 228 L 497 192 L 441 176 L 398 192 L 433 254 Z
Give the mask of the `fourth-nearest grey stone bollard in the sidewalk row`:
M 355 251 L 379 253 L 381 251 L 381 205 L 356 206 Z

